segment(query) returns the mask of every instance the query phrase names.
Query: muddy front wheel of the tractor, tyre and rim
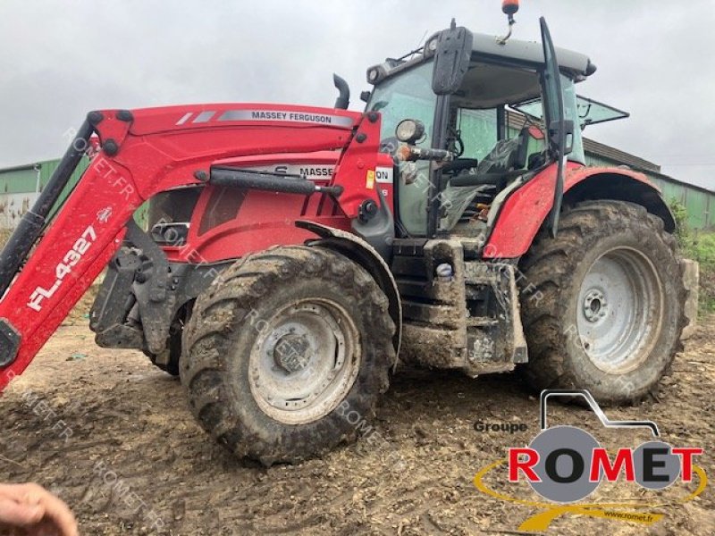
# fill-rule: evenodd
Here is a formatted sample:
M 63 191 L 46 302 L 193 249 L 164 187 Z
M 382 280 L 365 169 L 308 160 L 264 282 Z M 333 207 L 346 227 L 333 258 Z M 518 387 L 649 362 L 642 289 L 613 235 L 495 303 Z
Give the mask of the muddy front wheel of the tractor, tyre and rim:
M 198 297 L 181 383 L 198 423 L 264 465 L 357 438 L 395 362 L 395 326 L 374 279 L 321 247 L 240 260 Z

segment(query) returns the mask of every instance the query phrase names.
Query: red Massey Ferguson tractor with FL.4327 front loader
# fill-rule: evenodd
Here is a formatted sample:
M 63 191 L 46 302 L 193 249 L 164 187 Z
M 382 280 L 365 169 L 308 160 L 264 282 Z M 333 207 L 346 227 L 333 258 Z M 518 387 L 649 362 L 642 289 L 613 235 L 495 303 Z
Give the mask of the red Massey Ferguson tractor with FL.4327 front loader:
M 355 439 L 398 359 L 643 397 L 686 322 L 675 222 L 643 174 L 585 165 L 596 68 L 541 30 L 452 22 L 367 71 L 364 113 L 337 77 L 333 108 L 88 113 L 0 258 L 0 387 L 105 271 L 97 344 L 179 375 L 265 465 Z

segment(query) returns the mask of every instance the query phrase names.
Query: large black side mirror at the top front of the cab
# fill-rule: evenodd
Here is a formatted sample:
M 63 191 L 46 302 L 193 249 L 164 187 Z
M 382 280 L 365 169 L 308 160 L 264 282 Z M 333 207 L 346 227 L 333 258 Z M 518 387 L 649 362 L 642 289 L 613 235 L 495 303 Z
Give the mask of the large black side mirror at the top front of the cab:
M 472 59 L 474 36 L 468 29 L 459 27 L 454 20 L 430 42 L 434 51 L 432 89 L 436 95 L 450 95 L 462 85 Z

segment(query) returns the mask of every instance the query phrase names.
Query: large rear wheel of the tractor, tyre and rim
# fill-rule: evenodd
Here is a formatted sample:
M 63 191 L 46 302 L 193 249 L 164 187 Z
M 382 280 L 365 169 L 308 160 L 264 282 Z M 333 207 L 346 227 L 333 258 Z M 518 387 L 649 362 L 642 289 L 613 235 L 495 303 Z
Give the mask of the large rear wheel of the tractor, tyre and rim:
M 521 268 L 529 362 L 541 389 L 588 389 L 603 404 L 643 398 L 682 349 L 686 290 L 660 218 L 620 201 L 562 214 Z

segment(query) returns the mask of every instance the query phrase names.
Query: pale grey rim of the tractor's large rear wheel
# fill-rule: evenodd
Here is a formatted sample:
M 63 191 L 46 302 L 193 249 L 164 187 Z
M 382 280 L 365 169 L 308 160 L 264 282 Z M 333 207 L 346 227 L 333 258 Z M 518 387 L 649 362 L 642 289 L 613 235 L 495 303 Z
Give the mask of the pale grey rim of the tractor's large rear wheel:
M 576 328 L 591 362 L 607 373 L 628 373 L 644 363 L 660 333 L 660 277 L 640 251 L 611 249 L 586 273 L 576 306 Z

